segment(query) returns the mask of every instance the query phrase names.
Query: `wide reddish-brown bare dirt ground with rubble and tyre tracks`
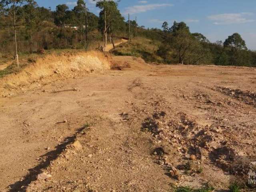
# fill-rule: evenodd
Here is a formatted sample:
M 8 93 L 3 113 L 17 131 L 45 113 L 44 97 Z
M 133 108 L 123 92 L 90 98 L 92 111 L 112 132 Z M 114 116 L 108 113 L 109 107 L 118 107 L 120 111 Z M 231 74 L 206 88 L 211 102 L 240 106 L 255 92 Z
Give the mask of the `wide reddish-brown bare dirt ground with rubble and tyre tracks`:
M 113 59 L 0 98 L 0 191 L 223 191 L 233 159 L 256 156 L 254 68 Z

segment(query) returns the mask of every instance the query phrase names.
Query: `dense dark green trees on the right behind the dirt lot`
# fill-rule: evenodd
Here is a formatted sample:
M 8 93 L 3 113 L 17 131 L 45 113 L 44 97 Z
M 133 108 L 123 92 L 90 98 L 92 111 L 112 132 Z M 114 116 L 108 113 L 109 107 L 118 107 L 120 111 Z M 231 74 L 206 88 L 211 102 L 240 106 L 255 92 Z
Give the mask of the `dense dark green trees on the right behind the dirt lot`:
M 256 67 L 256 52 L 248 50 L 238 33 L 232 34 L 224 42 L 211 43 L 203 34 L 191 33 L 184 22 L 174 22 L 171 27 L 164 22 L 162 31 L 151 30 L 154 31 L 162 42 L 157 54 L 166 63 Z

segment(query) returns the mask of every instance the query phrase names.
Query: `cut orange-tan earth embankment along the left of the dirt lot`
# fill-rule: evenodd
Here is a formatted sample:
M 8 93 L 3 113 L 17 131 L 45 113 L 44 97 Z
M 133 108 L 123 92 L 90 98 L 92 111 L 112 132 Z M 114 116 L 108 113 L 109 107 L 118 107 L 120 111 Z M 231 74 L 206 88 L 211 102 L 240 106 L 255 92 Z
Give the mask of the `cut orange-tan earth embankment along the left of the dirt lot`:
M 12 94 L 40 80 L 52 82 L 74 75 L 110 70 L 111 60 L 110 54 L 98 51 L 47 55 L 20 72 L 0 79 L 0 92 Z

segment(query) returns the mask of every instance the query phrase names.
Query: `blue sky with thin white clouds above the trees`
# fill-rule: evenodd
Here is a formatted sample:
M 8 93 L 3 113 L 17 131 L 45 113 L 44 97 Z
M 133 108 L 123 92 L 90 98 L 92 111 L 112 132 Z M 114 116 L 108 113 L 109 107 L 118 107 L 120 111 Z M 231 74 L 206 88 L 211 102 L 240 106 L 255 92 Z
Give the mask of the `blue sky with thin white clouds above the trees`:
M 70 9 L 76 0 L 36 0 L 39 6 L 55 10 L 58 4 Z M 85 0 L 90 12 L 98 15 L 93 0 Z M 146 28 L 161 28 L 164 21 L 172 26 L 174 20 L 184 21 L 191 32 L 204 34 L 211 42 L 224 41 L 235 32 L 241 34 L 246 45 L 256 50 L 256 0 L 121 0 L 122 15 Z

